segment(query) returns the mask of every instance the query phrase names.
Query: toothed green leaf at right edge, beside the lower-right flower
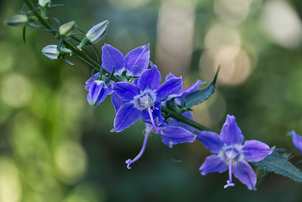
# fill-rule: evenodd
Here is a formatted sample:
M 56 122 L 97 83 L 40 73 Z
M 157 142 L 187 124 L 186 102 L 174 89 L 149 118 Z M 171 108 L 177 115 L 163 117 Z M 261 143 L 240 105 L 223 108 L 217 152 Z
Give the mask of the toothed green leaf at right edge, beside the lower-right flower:
M 302 171 L 292 165 L 285 155 L 281 155 L 276 151 L 273 151 L 271 155 L 268 155 L 262 161 L 253 162 L 252 164 L 267 171 L 291 178 L 294 181 L 302 182 Z

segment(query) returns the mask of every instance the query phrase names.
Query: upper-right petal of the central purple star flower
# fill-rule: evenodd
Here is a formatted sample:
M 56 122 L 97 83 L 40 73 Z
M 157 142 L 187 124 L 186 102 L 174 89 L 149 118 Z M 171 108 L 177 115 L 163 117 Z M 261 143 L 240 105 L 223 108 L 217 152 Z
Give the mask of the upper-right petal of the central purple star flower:
M 171 93 L 176 87 L 182 85 L 181 77 L 174 77 L 163 83 L 156 92 L 156 99 L 164 99 L 168 93 Z

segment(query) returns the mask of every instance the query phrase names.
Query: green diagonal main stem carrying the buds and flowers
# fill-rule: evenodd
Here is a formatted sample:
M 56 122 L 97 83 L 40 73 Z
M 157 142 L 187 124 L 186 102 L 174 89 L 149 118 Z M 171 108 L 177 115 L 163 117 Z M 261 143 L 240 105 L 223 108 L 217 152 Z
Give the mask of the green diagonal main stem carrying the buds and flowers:
M 27 5 L 27 7 L 32 10 L 34 9 L 33 5 L 29 2 L 29 0 L 23 0 L 25 2 L 25 4 Z M 41 24 L 43 24 L 43 26 L 45 26 L 45 28 L 47 29 L 53 29 L 53 26 L 51 26 L 48 21 L 43 18 L 37 11 L 34 12 L 34 15 L 38 18 L 38 20 L 40 21 Z M 59 39 L 55 33 L 53 33 L 53 36 L 55 36 L 57 39 Z M 82 53 L 82 51 L 80 51 L 79 49 L 77 49 L 74 45 L 72 45 L 69 41 L 66 40 L 66 38 L 63 38 L 64 43 L 66 44 L 66 46 L 72 51 L 73 54 L 75 54 L 76 56 L 78 56 L 79 58 L 81 58 L 82 60 L 84 60 L 86 63 L 88 63 L 89 65 L 91 65 L 92 67 L 94 67 L 97 70 L 100 70 L 101 65 L 99 65 L 98 63 L 96 63 L 94 60 L 90 59 L 89 57 L 87 57 L 85 54 Z M 106 73 L 109 73 L 107 70 L 105 70 L 103 68 L 103 71 Z M 120 78 L 116 77 L 116 76 L 112 76 L 111 78 L 114 81 L 122 81 Z M 207 128 L 204 125 L 201 125 L 195 121 L 192 121 L 191 119 L 188 119 L 185 116 L 182 116 L 181 114 L 178 114 L 164 106 L 162 106 L 162 112 L 164 112 L 165 114 L 170 114 L 169 117 L 172 117 L 178 121 L 181 121 L 185 124 L 191 125 L 192 127 L 198 129 L 198 130 L 205 130 L 205 131 L 211 131 L 211 132 L 215 132 L 214 130 Z

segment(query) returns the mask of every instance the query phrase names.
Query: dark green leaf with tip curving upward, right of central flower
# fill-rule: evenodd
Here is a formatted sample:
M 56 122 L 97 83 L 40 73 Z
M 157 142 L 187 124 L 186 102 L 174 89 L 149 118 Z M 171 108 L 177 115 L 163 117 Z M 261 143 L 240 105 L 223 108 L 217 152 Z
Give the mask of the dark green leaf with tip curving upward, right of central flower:
M 186 109 L 189 109 L 190 107 L 207 100 L 214 93 L 219 69 L 220 69 L 220 65 L 218 66 L 218 69 L 217 69 L 217 72 L 215 74 L 213 81 L 206 88 L 204 88 L 202 90 L 197 90 L 193 93 L 188 94 L 185 97 L 185 108 Z

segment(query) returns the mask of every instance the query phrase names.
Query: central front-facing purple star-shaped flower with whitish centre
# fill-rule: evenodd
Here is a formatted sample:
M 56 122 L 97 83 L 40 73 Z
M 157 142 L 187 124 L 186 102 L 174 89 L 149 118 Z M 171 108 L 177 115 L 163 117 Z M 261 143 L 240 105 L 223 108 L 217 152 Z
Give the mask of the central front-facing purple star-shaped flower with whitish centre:
M 143 71 L 137 85 L 129 82 L 111 81 L 112 90 L 123 101 L 114 119 L 114 129 L 111 132 L 120 132 L 133 125 L 141 117 L 143 121 L 151 123 L 156 131 L 160 129 L 155 125 L 154 119 L 158 118 L 159 124 L 164 122 L 161 115 L 161 102 L 165 96 L 182 84 L 181 78 L 171 78 L 160 85 L 161 76 L 156 65 Z

